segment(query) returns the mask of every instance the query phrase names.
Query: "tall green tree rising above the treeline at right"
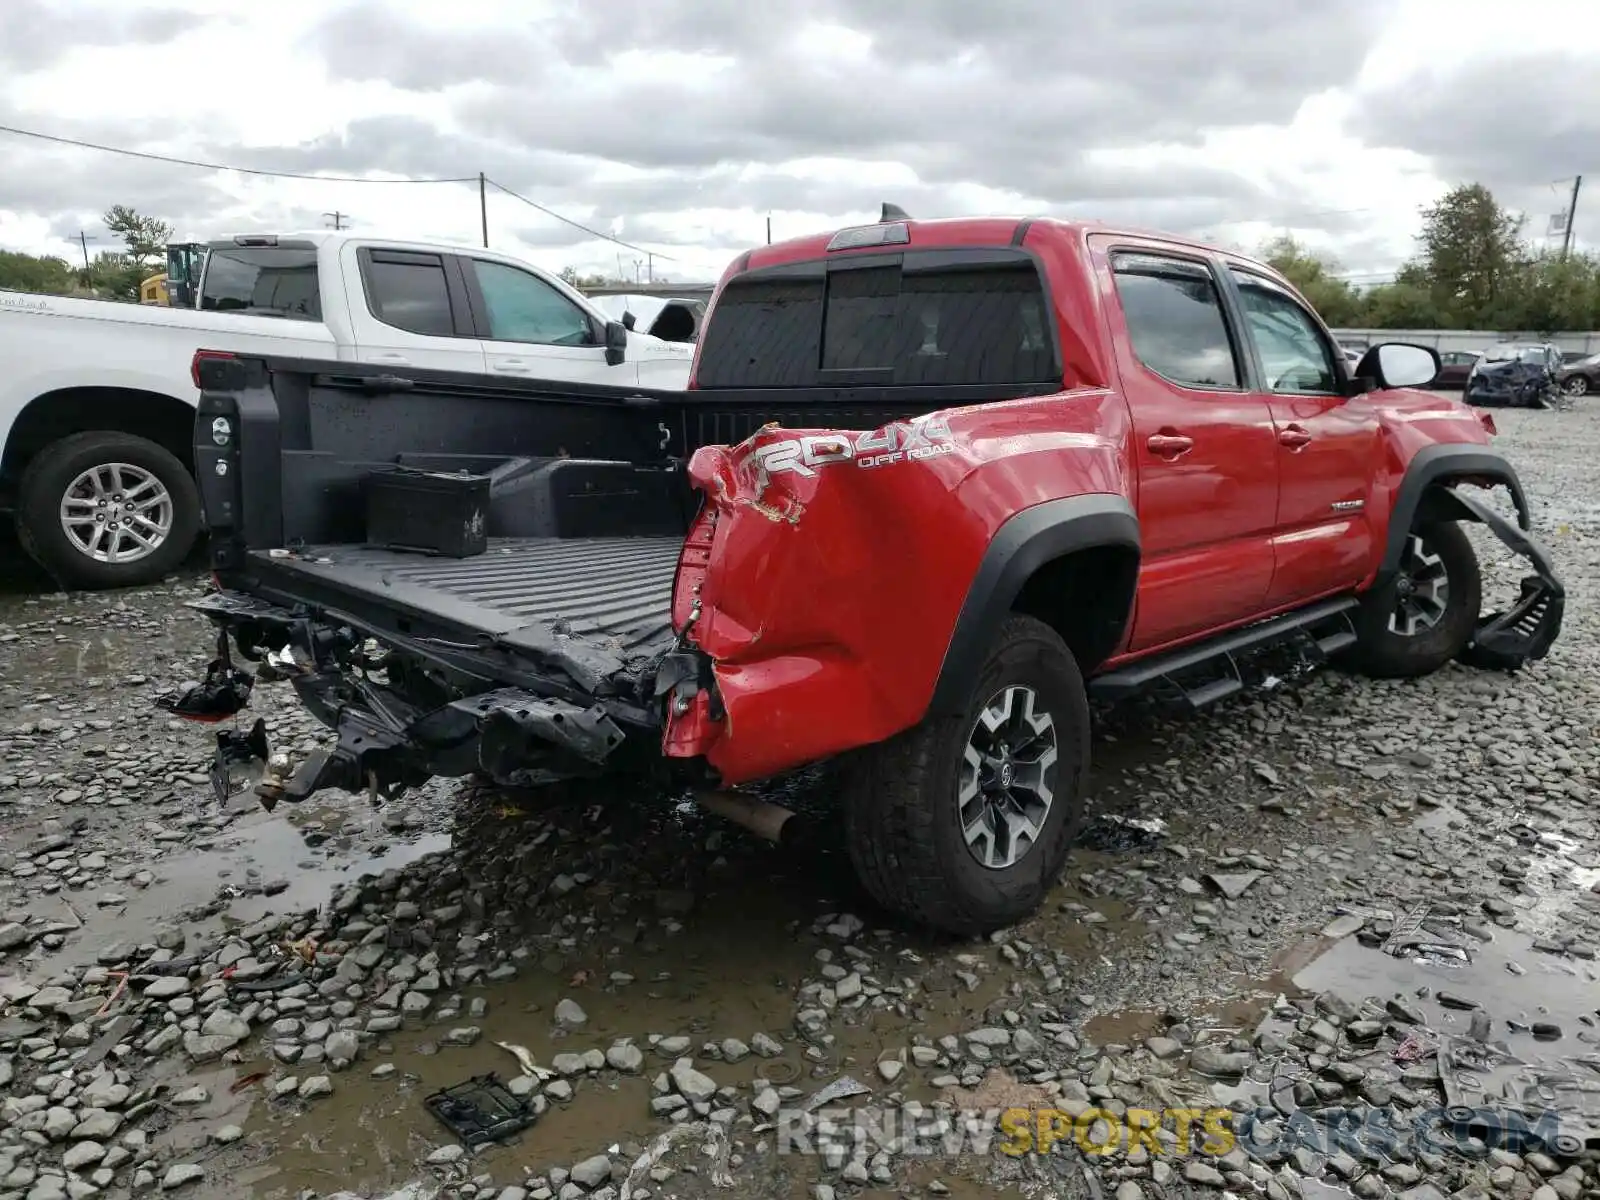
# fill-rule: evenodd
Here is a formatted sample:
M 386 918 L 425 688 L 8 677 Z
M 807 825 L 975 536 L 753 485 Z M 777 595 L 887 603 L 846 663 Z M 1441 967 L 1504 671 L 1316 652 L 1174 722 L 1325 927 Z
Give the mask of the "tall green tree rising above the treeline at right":
M 1483 184 L 1461 184 L 1422 210 L 1416 275 L 1462 328 L 1498 328 L 1526 269 L 1522 218 Z

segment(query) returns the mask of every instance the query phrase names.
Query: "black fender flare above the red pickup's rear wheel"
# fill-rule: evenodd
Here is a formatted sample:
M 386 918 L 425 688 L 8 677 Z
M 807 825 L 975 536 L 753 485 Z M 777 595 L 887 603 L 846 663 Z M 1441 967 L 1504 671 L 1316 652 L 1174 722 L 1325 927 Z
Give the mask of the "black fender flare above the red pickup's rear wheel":
M 994 630 L 1005 621 L 1034 571 L 1075 550 L 1101 546 L 1139 552 L 1139 518 L 1128 499 L 1115 493 L 1066 496 L 1011 515 L 995 531 L 966 589 L 926 715 L 955 715 L 971 704 L 971 690 L 982 670 Z M 1130 594 L 1123 622 L 1131 614 Z

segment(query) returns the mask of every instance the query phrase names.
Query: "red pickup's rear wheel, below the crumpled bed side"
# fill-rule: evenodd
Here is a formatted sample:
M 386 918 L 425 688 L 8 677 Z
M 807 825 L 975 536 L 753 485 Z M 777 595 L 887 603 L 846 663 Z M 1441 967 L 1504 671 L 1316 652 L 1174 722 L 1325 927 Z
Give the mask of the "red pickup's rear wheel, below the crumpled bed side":
M 1050 626 L 1000 629 L 966 710 L 861 750 L 845 784 L 850 856 L 874 899 L 944 933 L 1032 914 L 1083 818 L 1090 712 Z

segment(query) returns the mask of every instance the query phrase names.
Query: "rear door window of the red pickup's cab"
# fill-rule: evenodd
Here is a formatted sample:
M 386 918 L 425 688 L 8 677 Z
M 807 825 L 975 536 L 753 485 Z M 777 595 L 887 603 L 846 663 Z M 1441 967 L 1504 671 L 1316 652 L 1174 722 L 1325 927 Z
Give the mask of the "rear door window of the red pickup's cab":
M 1206 266 L 1162 254 L 1114 254 L 1112 274 L 1141 363 L 1181 387 L 1242 386 L 1222 298 Z

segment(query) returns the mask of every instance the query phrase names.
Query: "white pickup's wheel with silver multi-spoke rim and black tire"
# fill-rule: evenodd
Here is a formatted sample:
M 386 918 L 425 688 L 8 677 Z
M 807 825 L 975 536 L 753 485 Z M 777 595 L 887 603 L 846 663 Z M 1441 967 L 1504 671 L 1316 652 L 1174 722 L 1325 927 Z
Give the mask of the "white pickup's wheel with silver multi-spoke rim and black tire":
M 18 539 L 64 587 L 152 584 L 182 563 L 198 531 L 200 493 L 187 467 L 133 434 L 53 442 L 18 488 Z

